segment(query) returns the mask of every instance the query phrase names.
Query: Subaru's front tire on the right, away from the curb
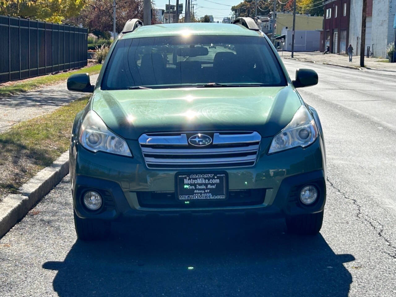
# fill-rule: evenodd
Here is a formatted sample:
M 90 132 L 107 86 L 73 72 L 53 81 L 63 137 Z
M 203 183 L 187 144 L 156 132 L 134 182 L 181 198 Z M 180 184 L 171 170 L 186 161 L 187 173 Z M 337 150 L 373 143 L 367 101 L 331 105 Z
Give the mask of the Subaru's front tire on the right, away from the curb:
M 294 215 L 286 217 L 286 227 L 289 233 L 314 236 L 322 228 L 323 210 L 307 215 Z

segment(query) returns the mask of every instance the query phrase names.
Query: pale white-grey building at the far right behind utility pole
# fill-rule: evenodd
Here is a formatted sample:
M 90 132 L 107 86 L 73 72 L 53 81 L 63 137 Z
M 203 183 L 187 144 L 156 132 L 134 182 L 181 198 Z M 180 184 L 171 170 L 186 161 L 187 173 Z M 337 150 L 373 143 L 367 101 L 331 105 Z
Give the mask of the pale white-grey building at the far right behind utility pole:
M 349 43 L 355 55 L 360 55 L 362 5 L 362 0 L 350 0 Z M 386 46 L 394 42 L 395 13 L 396 0 L 367 0 L 365 54 L 369 46 L 374 57 L 386 57 Z

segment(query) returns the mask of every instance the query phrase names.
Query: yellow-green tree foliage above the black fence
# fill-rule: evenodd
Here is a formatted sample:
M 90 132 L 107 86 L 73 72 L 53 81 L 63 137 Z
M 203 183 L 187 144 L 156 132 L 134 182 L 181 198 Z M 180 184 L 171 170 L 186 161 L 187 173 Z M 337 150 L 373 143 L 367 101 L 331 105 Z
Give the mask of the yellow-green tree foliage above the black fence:
M 0 14 L 61 23 L 77 16 L 84 0 L 0 0 Z

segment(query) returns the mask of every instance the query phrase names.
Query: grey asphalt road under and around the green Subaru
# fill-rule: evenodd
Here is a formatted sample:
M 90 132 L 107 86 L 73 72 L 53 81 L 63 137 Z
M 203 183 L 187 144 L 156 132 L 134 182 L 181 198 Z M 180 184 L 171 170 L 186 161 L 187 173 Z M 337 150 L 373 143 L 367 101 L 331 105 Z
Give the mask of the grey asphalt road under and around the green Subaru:
M 76 241 L 69 176 L 0 239 L 0 296 L 396 296 L 396 77 L 314 68 L 327 204 L 313 238 L 280 219 L 145 219 Z M 190 267 L 190 268 L 189 268 Z

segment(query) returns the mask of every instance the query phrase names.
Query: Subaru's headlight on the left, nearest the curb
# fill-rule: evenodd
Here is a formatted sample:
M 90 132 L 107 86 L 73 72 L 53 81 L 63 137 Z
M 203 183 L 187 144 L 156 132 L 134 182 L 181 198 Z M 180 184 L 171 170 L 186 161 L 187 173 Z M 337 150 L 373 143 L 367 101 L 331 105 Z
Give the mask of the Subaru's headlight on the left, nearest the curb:
M 110 131 L 93 110 L 89 110 L 82 121 L 79 139 L 83 147 L 93 152 L 101 150 L 112 154 L 132 156 L 126 141 Z

